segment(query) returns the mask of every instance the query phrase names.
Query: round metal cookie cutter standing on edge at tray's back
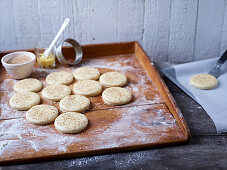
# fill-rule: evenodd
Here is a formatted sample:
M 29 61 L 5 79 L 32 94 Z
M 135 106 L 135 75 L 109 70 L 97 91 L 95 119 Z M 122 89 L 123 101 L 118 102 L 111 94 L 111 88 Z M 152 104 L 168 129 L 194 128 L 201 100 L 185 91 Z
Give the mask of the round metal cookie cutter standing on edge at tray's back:
M 75 56 L 75 60 L 73 62 L 69 62 L 68 60 L 66 60 L 64 55 L 62 54 L 62 46 L 63 46 L 64 42 L 69 43 L 75 51 L 76 56 Z M 76 65 L 82 60 L 83 50 L 82 50 L 80 44 L 76 40 L 69 38 L 69 39 L 64 40 L 56 48 L 56 56 L 57 56 L 58 61 L 62 64 Z

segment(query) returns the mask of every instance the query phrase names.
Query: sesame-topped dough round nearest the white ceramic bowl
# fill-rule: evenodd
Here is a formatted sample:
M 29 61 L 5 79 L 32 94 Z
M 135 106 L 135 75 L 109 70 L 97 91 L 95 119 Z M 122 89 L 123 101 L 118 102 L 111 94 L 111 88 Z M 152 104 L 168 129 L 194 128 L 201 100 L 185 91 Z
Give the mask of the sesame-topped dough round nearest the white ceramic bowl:
M 41 81 L 34 78 L 27 78 L 15 83 L 16 92 L 37 92 L 43 87 Z

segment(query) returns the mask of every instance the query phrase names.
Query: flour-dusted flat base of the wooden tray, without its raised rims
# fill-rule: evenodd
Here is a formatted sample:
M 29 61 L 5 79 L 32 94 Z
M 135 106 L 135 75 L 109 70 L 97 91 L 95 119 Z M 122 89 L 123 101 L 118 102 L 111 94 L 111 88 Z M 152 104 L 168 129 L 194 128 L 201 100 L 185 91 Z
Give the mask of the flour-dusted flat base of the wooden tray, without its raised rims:
M 120 107 L 101 103 L 103 102 L 100 100 L 101 96 L 90 98 L 94 102 L 94 110 L 85 114 L 98 115 L 100 110 L 111 110 L 115 116 L 114 121 L 104 121 L 106 124 L 103 125 L 102 121 L 105 118 L 103 115 L 97 118 L 97 124 L 93 124 L 88 116 L 91 127 L 80 134 L 60 133 L 53 124 L 45 126 L 29 124 L 25 119 L 25 111 L 13 110 L 8 103 L 15 93 L 13 85 L 17 80 L 5 79 L 0 84 L 0 92 L 3 94 L 0 99 L 0 160 L 13 158 L 15 151 L 16 154 L 22 154 L 26 150 L 30 157 L 40 156 L 43 151 L 52 155 L 70 152 L 76 154 L 79 151 L 151 144 L 166 138 L 179 138 L 182 134 L 175 119 L 162 104 L 164 101 L 161 95 L 136 60 L 135 56 L 113 56 L 106 57 L 105 60 L 92 58 L 80 64 L 96 67 L 101 73 L 112 70 L 124 73 L 129 80 L 125 88 L 133 94 L 132 101 Z M 64 70 L 72 73 L 76 68 L 76 66 L 67 68 L 60 66 L 55 69 L 34 68 L 31 77 L 41 80 L 45 87 L 47 86 L 45 78 L 51 72 Z M 73 84 L 70 85 L 71 88 L 72 86 Z M 97 104 L 95 103 L 97 101 L 100 102 Z M 45 102 L 55 106 L 58 104 L 52 101 Z M 175 136 L 169 134 L 170 130 L 175 132 Z

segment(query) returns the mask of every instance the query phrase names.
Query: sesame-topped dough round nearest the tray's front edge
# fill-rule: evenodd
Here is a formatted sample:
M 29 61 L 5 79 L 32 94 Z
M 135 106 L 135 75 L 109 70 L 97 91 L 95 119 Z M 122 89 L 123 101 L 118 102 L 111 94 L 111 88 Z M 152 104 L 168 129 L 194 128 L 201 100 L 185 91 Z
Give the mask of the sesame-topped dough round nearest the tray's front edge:
M 85 115 L 77 112 L 66 112 L 59 115 L 54 126 L 62 133 L 79 133 L 88 125 L 88 119 Z

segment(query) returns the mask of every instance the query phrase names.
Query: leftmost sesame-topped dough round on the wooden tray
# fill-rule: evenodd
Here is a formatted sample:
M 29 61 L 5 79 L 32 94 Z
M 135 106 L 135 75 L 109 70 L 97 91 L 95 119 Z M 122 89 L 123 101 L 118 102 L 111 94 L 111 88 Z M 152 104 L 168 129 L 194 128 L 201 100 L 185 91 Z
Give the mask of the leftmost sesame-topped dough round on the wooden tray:
M 39 103 L 40 97 L 34 92 L 19 92 L 9 100 L 10 106 L 16 110 L 28 110 Z

